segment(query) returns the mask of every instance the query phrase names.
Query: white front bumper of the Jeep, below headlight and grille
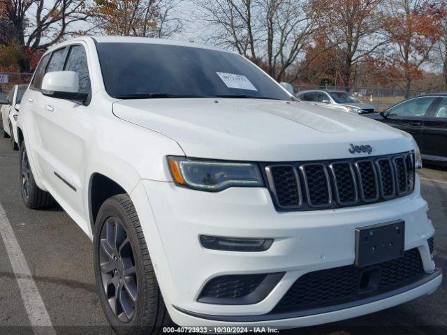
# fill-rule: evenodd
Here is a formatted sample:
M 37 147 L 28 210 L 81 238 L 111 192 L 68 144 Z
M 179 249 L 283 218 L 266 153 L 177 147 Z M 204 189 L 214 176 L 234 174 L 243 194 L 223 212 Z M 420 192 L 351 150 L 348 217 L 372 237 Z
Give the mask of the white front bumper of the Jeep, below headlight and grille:
M 427 276 L 436 273 L 427 244 L 434 229 L 427 218 L 427 203 L 420 197 L 418 182 L 416 185 L 413 194 L 388 202 L 287 213 L 274 209 L 265 188 L 229 188 L 220 193 L 205 193 L 169 182 L 144 180 L 135 188 L 132 198 L 149 239 L 149 252 L 163 298 L 177 324 L 226 325 L 235 320 L 240 325 L 249 315 L 253 320 L 256 316 L 256 325 L 270 322 L 296 327 L 371 313 L 437 288 L 441 276 L 405 292 L 395 292 L 393 297 L 381 297 L 380 301 L 388 301 L 387 304 L 363 301 L 360 306 L 342 306 L 338 311 L 262 320 L 303 274 L 352 265 L 355 228 L 404 220 L 405 249 L 418 248 Z M 215 251 L 200 245 L 200 234 L 272 238 L 274 243 L 264 252 Z M 207 281 L 216 276 L 274 272 L 285 274 L 270 294 L 256 304 L 235 306 L 197 301 Z M 216 316 L 228 318 L 219 320 Z

